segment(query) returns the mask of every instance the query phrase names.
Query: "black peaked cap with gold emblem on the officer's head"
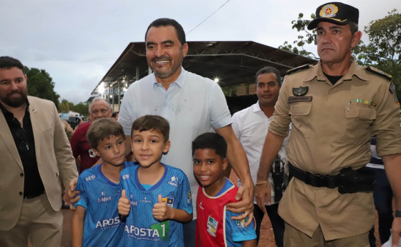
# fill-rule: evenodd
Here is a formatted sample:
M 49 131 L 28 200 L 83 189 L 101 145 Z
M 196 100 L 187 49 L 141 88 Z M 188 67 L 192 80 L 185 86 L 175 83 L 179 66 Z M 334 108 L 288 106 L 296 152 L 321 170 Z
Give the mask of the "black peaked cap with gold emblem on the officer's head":
M 338 25 L 346 25 L 350 21 L 358 24 L 358 18 L 358 8 L 340 2 L 332 2 L 317 7 L 316 18 L 309 23 L 307 28 L 312 30 L 321 21 Z

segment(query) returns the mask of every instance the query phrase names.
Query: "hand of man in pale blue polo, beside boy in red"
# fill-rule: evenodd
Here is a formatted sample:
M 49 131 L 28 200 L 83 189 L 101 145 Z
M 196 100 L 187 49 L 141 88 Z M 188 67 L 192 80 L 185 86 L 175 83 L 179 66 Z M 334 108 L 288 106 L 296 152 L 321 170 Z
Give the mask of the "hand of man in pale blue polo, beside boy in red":
M 236 217 L 231 217 L 233 220 L 247 219 L 245 226 L 249 226 L 253 220 L 253 184 L 249 185 L 243 184 L 238 188 L 236 193 L 236 200 L 241 200 L 240 202 L 231 202 L 226 205 L 226 209 L 241 214 Z

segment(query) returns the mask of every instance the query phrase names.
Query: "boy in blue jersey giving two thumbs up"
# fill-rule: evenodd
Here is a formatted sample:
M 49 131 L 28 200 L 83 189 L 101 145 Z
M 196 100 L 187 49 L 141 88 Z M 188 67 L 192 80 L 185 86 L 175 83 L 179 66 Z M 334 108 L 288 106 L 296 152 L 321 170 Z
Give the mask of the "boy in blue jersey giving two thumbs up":
M 124 169 L 120 178 L 126 246 L 184 246 L 182 223 L 192 220 L 192 197 L 185 173 L 160 162 L 170 148 L 169 132 L 167 120 L 156 115 L 133 122 L 131 147 L 139 166 Z

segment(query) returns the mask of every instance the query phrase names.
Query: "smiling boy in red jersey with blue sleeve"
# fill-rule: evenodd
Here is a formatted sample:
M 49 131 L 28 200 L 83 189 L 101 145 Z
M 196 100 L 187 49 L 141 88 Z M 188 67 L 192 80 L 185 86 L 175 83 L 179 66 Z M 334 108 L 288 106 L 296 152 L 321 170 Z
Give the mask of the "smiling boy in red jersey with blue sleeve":
M 192 142 L 194 176 L 201 184 L 197 194 L 197 247 L 256 246 L 254 224 L 234 220 L 226 204 L 236 202 L 236 185 L 224 176 L 227 144 L 216 133 L 204 133 Z

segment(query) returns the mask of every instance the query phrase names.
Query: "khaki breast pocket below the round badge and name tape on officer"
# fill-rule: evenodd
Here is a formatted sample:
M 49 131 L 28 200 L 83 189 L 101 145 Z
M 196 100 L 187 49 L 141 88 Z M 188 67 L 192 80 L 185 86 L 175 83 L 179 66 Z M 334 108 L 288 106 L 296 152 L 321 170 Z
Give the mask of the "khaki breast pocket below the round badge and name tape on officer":
M 292 127 L 299 131 L 304 137 L 310 136 L 310 111 L 312 102 L 295 102 L 290 103 Z

